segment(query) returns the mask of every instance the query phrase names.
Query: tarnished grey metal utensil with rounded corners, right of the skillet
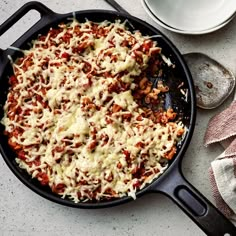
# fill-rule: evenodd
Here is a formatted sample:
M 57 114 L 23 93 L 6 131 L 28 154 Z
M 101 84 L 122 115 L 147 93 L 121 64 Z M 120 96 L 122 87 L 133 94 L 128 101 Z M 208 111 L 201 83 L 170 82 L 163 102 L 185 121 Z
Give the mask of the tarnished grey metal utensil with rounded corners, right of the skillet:
M 202 53 L 188 53 L 184 59 L 193 76 L 198 107 L 213 109 L 220 106 L 235 87 L 233 73 Z

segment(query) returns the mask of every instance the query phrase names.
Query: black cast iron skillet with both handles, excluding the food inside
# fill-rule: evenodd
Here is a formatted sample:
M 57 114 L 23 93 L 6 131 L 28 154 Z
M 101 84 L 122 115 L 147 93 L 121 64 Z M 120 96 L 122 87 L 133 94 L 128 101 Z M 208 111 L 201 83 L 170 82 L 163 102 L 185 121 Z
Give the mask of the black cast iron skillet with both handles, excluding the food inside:
M 22 49 L 27 48 L 28 43 L 32 39 L 35 39 L 39 33 L 45 33 L 50 27 L 56 27 L 60 22 L 67 22 L 68 18 L 72 18 L 73 16 L 73 13 L 57 14 L 39 2 L 29 2 L 0 26 L 0 35 L 32 9 L 40 13 L 40 20 L 13 43 L 12 46 Z M 171 80 L 172 82 L 169 83 L 170 93 L 167 96 L 166 103 L 182 114 L 183 122 L 188 127 L 188 133 L 183 142 L 178 146 L 177 155 L 164 174 L 153 180 L 153 182 L 144 189 L 138 191 L 137 197 L 150 192 L 163 193 L 170 197 L 208 235 L 236 235 L 236 228 L 233 224 L 188 183 L 182 175 L 181 161 L 193 134 L 196 117 L 196 102 L 192 78 L 180 52 L 157 29 L 128 14 L 105 10 L 87 10 L 75 12 L 74 15 L 80 22 L 85 21 L 85 19 L 95 22 L 103 20 L 114 21 L 116 19 L 124 21 L 128 19 L 131 30 L 134 27 L 135 29 L 139 29 L 143 34 L 158 35 L 158 43 L 159 46 L 162 47 L 163 53 L 167 57 L 170 57 L 176 65 L 176 69 L 173 72 L 174 74 L 168 75 L 169 77 L 173 76 L 175 79 Z M 11 65 L 7 57 L 8 55 L 11 55 L 11 57 L 15 59 L 20 53 L 12 49 L 0 50 L 0 119 L 3 117 L 3 105 L 6 101 L 9 87 L 8 77 L 12 74 Z M 188 90 L 187 99 L 184 99 L 182 93 L 176 89 L 180 82 L 184 82 L 183 89 Z M 7 138 L 4 136 L 3 130 L 4 127 L 1 125 L 0 151 L 4 160 L 12 172 L 26 186 L 42 197 L 70 207 L 92 209 L 111 207 L 132 200 L 130 197 L 123 197 L 112 201 L 74 203 L 68 199 L 61 199 L 59 196 L 54 195 L 49 188 L 42 187 L 36 180 L 32 180 L 25 171 L 18 167 L 14 158 L 15 154 L 7 144 Z

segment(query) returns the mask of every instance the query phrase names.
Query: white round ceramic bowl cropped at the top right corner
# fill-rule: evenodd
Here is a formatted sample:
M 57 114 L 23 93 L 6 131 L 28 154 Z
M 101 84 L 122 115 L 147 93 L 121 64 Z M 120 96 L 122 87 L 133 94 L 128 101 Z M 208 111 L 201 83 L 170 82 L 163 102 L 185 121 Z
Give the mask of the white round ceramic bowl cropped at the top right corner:
M 142 0 L 150 17 L 162 27 L 182 34 L 205 34 L 229 23 L 236 0 Z

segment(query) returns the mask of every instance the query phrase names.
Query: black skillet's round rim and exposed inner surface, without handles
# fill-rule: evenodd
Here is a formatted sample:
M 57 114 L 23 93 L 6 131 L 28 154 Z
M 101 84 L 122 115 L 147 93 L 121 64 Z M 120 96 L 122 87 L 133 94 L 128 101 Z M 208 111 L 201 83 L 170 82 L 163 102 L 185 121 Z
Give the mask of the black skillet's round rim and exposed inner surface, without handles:
M 158 41 L 158 45 L 162 48 L 162 53 L 168 58 L 171 59 L 171 61 L 175 64 L 175 69 L 170 73 L 167 71 L 166 76 L 167 78 L 167 84 L 170 88 L 170 92 L 168 93 L 168 96 L 166 96 L 166 105 L 171 105 L 174 110 L 176 110 L 180 116 L 182 117 L 183 123 L 186 125 L 186 127 L 189 129 L 188 134 L 186 135 L 184 141 L 178 145 L 178 151 L 177 155 L 174 158 L 173 161 L 170 162 L 169 168 L 166 170 L 166 172 L 169 172 L 173 167 L 174 163 L 178 163 L 181 157 L 183 156 L 183 152 L 186 149 L 186 146 L 188 145 L 192 130 L 193 130 L 193 123 L 195 119 L 195 102 L 194 102 L 194 91 L 193 91 L 193 84 L 191 80 L 191 75 L 186 67 L 185 62 L 183 61 L 182 56 L 178 52 L 178 50 L 175 48 L 175 46 L 164 36 L 162 35 L 157 29 L 153 28 L 149 24 L 135 18 L 132 16 L 127 16 L 122 13 L 117 13 L 113 11 L 104 11 L 104 10 L 90 10 L 90 11 L 80 11 L 75 13 L 76 18 L 80 22 L 84 22 L 86 19 L 89 19 L 94 22 L 101 22 L 104 20 L 109 20 L 111 22 L 114 22 L 116 19 L 121 19 L 121 21 L 124 21 L 126 19 L 129 20 L 130 24 L 130 30 L 140 30 L 142 34 L 144 35 L 157 35 L 156 40 Z M 27 40 L 22 41 L 21 39 L 17 40 L 12 46 L 26 49 L 29 47 L 29 42 L 31 42 L 32 39 L 37 38 L 37 35 L 45 34 L 50 27 L 57 27 L 58 23 L 60 22 L 67 22 L 69 21 L 68 18 L 72 18 L 72 14 L 65 14 L 65 15 L 59 15 L 56 14 L 53 20 L 47 21 L 47 22 L 40 22 L 42 23 L 42 26 L 40 27 L 40 30 L 36 33 L 32 33 L 30 37 L 27 38 Z M 153 38 L 155 40 L 155 38 Z M 19 52 L 14 52 L 12 50 L 7 50 L 5 52 L 6 54 L 10 54 L 14 59 L 21 56 Z M 8 60 L 5 58 L 4 60 Z M 12 74 L 12 68 L 9 63 L 7 62 L 3 74 L 0 78 L 0 119 L 3 117 L 3 105 L 7 98 L 7 92 L 8 92 L 8 78 Z M 183 87 L 181 87 L 184 90 L 188 90 L 188 95 L 185 97 L 181 92 L 180 89 L 178 89 L 178 85 L 180 85 L 182 82 L 184 82 Z M 3 134 L 4 127 L 0 125 L 0 149 L 1 153 L 10 167 L 10 169 L 13 171 L 13 173 L 29 188 L 31 188 L 33 191 L 37 192 L 41 196 L 52 200 L 54 202 L 72 206 L 72 207 L 80 207 L 80 208 L 100 208 L 100 207 L 108 207 L 113 205 L 118 205 L 120 203 L 132 200 L 131 197 L 124 197 L 120 199 L 115 199 L 112 201 L 104 201 L 104 202 L 86 202 L 86 203 L 74 203 L 69 199 L 61 199 L 60 196 L 55 195 L 51 192 L 49 187 L 42 187 L 37 180 L 32 179 L 24 170 L 20 169 L 15 162 L 15 153 L 11 150 L 9 145 L 7 144 L 7 137 Z M 165 175 L 165 173 L 160 176 L 157 180 L 153 180 L 153 183 L 159 181 L 162 179 L 162 177 Z M 141 191 L 137 192 L 137 196 L 142 195 L 143 193 L 147 192 L 150 185 L 142 189 Z

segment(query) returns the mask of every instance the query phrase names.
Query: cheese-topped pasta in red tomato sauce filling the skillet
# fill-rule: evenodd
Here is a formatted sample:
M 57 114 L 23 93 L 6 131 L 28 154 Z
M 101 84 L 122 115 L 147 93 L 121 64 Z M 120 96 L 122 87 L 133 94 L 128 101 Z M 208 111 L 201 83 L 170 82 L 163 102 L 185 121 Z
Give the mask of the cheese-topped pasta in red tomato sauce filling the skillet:
M 126 24 L 61 23 L 11 61 L 1 123 L 16 162 L 76 203 L 135 199 L 186 133 L 158 79 L 173 65 Z

